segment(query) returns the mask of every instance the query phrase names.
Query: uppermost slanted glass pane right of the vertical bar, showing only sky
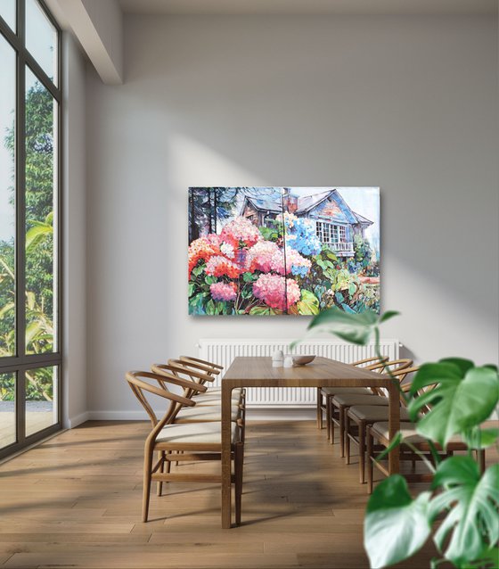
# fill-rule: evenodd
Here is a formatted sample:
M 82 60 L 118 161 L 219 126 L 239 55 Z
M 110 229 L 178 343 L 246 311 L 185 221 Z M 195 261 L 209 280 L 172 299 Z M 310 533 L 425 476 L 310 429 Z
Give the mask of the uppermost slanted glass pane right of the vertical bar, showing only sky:
M 26 47 L 57 85 L 57 30 L 37 0 L 26 0 Z

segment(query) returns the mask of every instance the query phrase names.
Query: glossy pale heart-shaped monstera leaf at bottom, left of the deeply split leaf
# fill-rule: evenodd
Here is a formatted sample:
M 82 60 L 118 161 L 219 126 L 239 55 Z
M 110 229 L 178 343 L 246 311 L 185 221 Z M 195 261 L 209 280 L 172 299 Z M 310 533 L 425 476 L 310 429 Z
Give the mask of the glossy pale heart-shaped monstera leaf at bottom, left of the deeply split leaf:
M 400 474 L 375 488 L 364 518 L 364 548 L 372 568 L 386 567 L 411 557 L 429 537 L 429 498 L 412 499 Z

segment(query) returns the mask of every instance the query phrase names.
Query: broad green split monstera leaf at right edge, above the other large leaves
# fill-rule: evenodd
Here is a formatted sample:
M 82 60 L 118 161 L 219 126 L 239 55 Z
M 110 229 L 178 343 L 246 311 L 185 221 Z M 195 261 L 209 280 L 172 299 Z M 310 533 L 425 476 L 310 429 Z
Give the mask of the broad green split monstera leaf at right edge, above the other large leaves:
M 416 420 L 418 412 L 429 405 L 429 412 L 418 422 L 422 436 L 446 447 L 454 433 L 466 432 L 485 421 L 499 400 L 499 378 L 492 367 L 473 367 L 467 359 L 442 359 L 424 364 L 415 375 L 411 392 L 436 387 L 415 397 L 409 412 Z

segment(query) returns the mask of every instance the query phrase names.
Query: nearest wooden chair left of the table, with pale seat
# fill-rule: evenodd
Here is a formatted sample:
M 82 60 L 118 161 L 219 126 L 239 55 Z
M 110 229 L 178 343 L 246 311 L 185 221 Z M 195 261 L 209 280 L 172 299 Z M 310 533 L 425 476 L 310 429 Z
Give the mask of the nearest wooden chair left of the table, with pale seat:
M 170 472 L 170 463 L 177 461 L 220 460 L 221 458 L 221 425 L 219 422 L 194 423 L 179 425 L 172 423 L 178 406 L 193 407 L 194 401 L 168 390 L 164 375 L 151 372 L 128 372 L 127 382 L 135 396 L 146 408 L 153 424 L 144 448 L 143 463 L 143 522 L 147 522 L 151 482 L 222 482 L 221 474 L 186 474 Z M 145 379 L 153 380 L 151 384 Z M 169 378 L 168 378 L 169 379 Z M 159 384 L 159 385 L 158 385 Z M 169 401 L 165 415 L 158 419 L 148 394 L 158 395 Z M 237 423 L 232 424 L 231 455 L 234 464 L 233 483 L 235 485 L 236 524 L 241 524 L 242 465 L 244 445 L 241 441 L 241 429 Z M 173 454 L 181 451 L 182 454 Z M 154 452 L 159 453 L 158 461 L 153 464 Z

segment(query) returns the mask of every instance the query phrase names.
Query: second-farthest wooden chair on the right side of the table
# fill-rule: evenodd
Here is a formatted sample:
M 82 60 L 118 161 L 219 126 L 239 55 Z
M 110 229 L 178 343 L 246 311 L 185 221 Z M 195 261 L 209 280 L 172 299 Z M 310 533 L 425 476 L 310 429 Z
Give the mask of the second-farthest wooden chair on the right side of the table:
M 383 370 L 389 368 L 390 374 L 396 376 L 398 381 L 405 378 L 404 370 L 413 365 L 412 359 L 394 359 L 383 364 Z M 385 375 L 389 379 L 389 375 Z M 331 398 L 331 444 L 334 442 L 334 425 L 339 427 L 339 451 L 340 456 L 345 457 L 345 413 L 346 409 L 354 405 L 386 405 L 389 398 L 379 389 L 374 390 L 380 394 L 357 394 L 357 393 L 338 393 Z M 336 410 L 336 413 L 335 413 Z

